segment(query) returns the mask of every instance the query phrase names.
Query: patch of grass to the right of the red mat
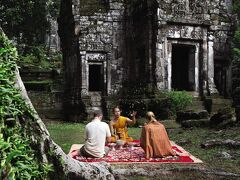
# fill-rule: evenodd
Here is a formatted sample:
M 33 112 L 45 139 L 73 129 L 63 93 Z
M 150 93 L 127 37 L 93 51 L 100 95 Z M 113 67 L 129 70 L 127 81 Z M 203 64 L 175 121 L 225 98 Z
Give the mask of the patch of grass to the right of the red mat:
M 181 145 L 194 156 L 201 159 L 208 167 L 226 172 L 240 174 L 240 148 L 213 147 L 209 149 L 201 148 L 201 144 L 207 140 L 232 139 L 240 141 L 240 127 L 226 130 L 213 130 L 208 128 L 178 129 L 169 133 L 169 138 Z M 224 158 L 219 154 L 227 152 L 232 158 Z

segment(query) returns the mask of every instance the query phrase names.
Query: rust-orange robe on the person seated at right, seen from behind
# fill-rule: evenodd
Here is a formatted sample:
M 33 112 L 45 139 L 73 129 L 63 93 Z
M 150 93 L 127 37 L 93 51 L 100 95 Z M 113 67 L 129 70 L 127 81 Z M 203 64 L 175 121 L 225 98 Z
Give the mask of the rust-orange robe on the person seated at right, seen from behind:
M 140 145 L 146 158 L 175 156 L 167 131 L 160 122 L 151 122 L 142 128 Z

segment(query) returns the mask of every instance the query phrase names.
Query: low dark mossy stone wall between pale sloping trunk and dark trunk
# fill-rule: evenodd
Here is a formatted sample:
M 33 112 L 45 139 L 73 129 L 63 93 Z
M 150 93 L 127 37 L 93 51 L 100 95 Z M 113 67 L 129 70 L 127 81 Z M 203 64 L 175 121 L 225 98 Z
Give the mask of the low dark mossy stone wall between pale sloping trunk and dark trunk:
M 43 120 L 64 119 L 63 74 L 47 70 L 22 70 L 21 78 L 28 96 Z

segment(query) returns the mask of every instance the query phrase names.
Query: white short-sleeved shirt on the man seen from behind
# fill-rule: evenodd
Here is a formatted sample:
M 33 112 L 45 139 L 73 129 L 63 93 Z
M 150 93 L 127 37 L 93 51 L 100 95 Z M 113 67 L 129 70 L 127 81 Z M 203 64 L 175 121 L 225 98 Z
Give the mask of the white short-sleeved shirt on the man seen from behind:
M 95 157 L 103 157 L 106 137 L 110 136 L 108 124 L 98 118 L 93 119 L 85 127 L 85 151 Z

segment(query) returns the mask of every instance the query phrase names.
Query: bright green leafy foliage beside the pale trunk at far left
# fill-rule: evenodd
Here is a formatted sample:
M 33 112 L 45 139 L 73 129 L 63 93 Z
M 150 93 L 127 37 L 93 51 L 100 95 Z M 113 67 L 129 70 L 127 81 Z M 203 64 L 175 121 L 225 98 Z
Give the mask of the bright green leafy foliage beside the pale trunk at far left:
M 0 31 L 0 177 L 44 179 L 51 165 L 38 162 L 30 138 L 19 124 L 31 111 L 14 88 L 17 58 L 16 48 Z

